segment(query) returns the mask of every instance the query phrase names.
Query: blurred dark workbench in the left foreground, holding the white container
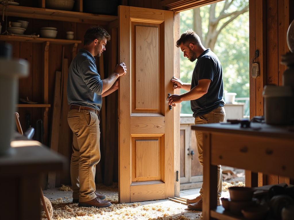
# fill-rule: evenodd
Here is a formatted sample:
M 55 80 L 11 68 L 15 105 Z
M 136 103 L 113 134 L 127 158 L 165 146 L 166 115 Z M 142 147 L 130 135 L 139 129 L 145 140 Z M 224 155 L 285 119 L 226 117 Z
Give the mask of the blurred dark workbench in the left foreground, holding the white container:
M 66 159 L 38 141 L 16 135 L 11 153 L 0 155 L 0 219 L 41 219 L 42 175 L 61 171 Z

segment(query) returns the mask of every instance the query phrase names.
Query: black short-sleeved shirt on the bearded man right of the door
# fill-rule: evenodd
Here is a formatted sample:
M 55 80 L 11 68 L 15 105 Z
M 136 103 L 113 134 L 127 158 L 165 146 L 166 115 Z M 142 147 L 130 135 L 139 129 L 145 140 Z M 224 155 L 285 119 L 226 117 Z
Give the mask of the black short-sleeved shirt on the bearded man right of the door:
M 211 79 L 208 92 L 199 99 L 191 100 L 193 117 L 208 114 L 224 106 L 223 70 L 218 57 L 208 48 L 197 58 L 193 70 L 191 89 L 198 85 L 200 79 Z

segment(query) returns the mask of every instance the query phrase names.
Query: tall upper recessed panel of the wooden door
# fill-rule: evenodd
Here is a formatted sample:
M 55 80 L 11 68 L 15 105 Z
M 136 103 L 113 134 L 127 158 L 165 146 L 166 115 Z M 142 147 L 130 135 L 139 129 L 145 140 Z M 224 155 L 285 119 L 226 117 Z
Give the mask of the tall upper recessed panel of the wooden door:
M 138 22 L 131 18 L 132 113 L 162 112 L 163 21 Z M 160 46 L 161 45 L 161 46 Z

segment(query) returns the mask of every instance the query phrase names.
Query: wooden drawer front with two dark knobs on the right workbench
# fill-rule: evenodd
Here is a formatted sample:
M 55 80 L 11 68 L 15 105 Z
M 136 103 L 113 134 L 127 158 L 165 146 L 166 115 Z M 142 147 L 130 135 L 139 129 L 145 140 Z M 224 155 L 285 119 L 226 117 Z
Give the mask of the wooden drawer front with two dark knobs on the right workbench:
M 211 163 L 294 178 L 294 140 L 211 134 Z

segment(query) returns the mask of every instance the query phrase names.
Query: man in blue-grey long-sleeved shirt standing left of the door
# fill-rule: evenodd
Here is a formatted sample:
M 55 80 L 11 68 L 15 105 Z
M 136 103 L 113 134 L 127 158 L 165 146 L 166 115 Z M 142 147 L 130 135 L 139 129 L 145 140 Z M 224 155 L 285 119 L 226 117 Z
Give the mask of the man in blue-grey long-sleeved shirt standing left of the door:
M 94 56 L 106 50 L 110 35 L 101 27 L 90 27 L 69 67 L 67 100 L 71 105 L 67 120 L 74 133 L 71 155 L 73 202 L 79 207 L 108 207 L 105 195 L 96 193 L 96 164 L 100 161 L 100 119 L 102 97 L 118 89 L 118 77 L 126 74 L 126 65 L 117 65 L 113 73 L 101 79 Z

